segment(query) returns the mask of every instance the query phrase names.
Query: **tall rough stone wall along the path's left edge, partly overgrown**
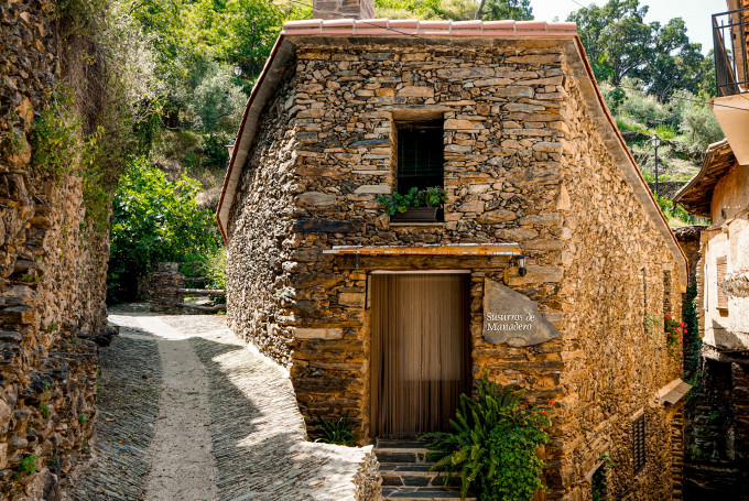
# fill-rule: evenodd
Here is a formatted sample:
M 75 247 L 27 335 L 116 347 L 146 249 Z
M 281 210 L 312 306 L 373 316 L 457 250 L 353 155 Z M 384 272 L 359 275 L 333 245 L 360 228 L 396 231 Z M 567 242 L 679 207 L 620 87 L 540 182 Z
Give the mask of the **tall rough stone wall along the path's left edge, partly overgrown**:
M 57 72 L 51 9 L 40 1 L 0 4 L 3 499 L 56 499 L 57 477 L 91 433 L 97 342 L 111 334 L 105 305 L 109 248 L 86 219 L 82 179 L 31 165 L 34 117 Z

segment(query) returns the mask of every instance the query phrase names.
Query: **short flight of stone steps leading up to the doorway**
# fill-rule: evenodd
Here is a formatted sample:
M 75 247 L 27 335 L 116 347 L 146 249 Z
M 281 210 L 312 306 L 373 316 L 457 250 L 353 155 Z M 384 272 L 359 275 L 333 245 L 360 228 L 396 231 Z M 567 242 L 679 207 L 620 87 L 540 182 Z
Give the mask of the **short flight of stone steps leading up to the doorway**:
M 460 480 L 451 479 L 444 486 L 445 476 L 430 471 L 434 464 L 426 459 L 427 449 L 416 440 L 391 440 L 378 438 L 374 454 L 380 461 L 382 499 L 399 501 L 459 501 Z M 476 501 L 470 493 L 468 501 Z

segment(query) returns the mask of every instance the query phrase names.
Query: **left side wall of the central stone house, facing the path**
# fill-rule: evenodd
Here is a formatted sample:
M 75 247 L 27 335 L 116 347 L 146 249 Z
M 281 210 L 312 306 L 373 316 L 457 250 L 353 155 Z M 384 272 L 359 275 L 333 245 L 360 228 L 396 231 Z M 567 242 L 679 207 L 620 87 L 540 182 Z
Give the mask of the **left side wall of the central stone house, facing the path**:
M 231 329 L 289 367 L 289 329 L 283 327 L 290 274 L 304 261 L 293 231 L 295 134 L 280 89 L 258 132 L 254 155 L 232 207 L 227 243 L 227 314 Z M 293 254 L 293 252 L 296 252 Z M 297 280 L 303 280 L 300 275 Z

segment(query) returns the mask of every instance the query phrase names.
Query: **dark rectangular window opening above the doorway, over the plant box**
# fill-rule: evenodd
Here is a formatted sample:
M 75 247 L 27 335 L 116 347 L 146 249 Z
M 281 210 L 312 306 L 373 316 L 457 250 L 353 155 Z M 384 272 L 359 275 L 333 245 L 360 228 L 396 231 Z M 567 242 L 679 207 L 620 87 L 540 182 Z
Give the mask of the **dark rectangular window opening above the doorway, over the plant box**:
M 398 193 L 443 185 L 443 121 L 399 123 Z

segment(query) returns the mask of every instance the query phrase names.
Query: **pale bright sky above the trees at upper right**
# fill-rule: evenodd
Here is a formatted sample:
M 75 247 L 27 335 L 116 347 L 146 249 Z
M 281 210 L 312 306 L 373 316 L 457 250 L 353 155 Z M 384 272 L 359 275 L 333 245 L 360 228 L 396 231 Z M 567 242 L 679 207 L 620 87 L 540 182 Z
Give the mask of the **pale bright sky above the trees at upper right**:
M 565 21 L 569 12 L 582 6 L 604 6 L 607 0 L 531 0 L 531 7 L 538 20 L 552 21 L 558 15 L 560 21 Z M 649 7 L 647 22 L 659 21 L 665 24 L 672 18 L 682 18 L 690 40 L 701 43 L 704 54 L 713 48 L 710 15 L 728 10 L 726 0 L 640 0 L 640 6 Z

